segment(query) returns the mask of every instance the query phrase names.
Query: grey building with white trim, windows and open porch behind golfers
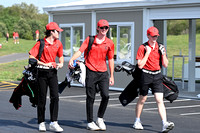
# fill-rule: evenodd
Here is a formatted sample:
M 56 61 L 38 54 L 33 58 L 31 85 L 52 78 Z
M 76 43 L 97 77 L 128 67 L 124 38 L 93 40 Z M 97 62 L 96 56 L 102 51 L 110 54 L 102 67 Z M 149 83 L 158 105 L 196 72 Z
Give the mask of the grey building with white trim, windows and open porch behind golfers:
M 49 21 L 55 21 L 64 31 L 60 38 L 64 45 L 65 63 L 80 47 L 88 35 L 96 34 L 96 23 L 107 19 L 109 37 L 115 43 L 115 65 L 126 60 L 136 63 L 135 56 L 140 44 L 147 40 L 146 30 L 156 26 L 160 31 L 159 42 L 167 46 L 167 20 L 189 20 L 189 78 L 188 91 L 195 92 L 195 45 L 196 19 L 200 18 L 199 0 L 81 0 L 43 8 Z M 59 72 L 59 81 L 66 69 Z M 166 70 L 163 70 L 166 73 Z M 115 86 L 122 90 L 131 80 L 125 73 L 115 73 Z

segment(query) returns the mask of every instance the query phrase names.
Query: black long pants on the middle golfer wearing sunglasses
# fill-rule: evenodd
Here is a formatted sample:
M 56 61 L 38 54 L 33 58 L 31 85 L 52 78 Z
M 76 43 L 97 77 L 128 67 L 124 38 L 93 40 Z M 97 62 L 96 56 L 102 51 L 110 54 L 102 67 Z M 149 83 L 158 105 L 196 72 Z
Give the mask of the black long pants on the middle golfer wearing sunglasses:
M 109 100 L 109 78 L 108 72 L 95 72 L 86 70 L 86 112 L 88 123 L 93 122 L 93 105 L 98 85 L 101 94 L 101 103 L 98 110 L 98 117 L 103 118 Z

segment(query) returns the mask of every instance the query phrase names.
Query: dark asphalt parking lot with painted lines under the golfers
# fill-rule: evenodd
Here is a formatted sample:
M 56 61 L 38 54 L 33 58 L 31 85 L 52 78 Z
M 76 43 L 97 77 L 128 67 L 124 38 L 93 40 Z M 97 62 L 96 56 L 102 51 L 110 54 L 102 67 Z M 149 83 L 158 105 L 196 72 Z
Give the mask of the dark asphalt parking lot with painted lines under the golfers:
M 0 133 L 35 133 L 38 132 L 36 108 L 31 107 L 27 96 L 22 98 L 22 107 L 15 110 L 9 98 L 17 84 L 0 82 Z M 66 88 L 60 95 L 59 124 L 65 133 L 159 133 L 162 129 L 161 120 L 157 113 L 154 97 L 149 96 L 141 116 L 144 130 L 132 128 L 135 119 L 135 99 L 128 106 L 123 107 L 118 97 L 121 92 L 110 91 L 110 101 L 105 114 L 106 131 L 86 130 L 85 88 Z M 94 118 L 100 103 L 97 94 L 94 106 Z M 49 123 L 49 100 L 46 106 L 46 125 Z M 165 101 L 168 120 L 175 123 L 171 133 L 199 133 L 200 132 L 200 100 L 179 98 L 173 103 Z M 50 133 L 47 127 L 47 133 Z

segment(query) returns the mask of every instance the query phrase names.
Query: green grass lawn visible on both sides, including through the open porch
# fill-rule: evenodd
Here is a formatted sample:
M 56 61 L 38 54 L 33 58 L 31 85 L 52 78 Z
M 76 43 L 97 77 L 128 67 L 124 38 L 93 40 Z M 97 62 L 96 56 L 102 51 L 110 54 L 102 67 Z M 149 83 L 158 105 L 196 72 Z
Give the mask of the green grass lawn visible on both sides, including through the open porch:
M 167 68 L 167 76 L 172 77 L 172 57 L 179 55 L 188 55 L 188 35 L 167 36 L 167 55 L 169 59 L 169 66 Z M 20 44 L 14 44 L 12 38 L 9 42 L 5 42 L 5 38 L 0 38 L 0 43 L 3 44 L 0 49 L 0 56 L 11 53 L 25 53 L 28 52 L 36 43 L 34 40 L 20 39 Z M 196 37 L 196 56 L 200 56 L 200 34 Z M 185 61 L 188 62 L 188 58 Z M 0 81 L 19 81 L 22 78 L 22 71 L 24 66 L 28 64 L 28 59 L 23 61 L 15 61 L 11 63 L 0 64 Z M 182 59 L 175 60 L 175 77 L 181 78 L 182 73 Z

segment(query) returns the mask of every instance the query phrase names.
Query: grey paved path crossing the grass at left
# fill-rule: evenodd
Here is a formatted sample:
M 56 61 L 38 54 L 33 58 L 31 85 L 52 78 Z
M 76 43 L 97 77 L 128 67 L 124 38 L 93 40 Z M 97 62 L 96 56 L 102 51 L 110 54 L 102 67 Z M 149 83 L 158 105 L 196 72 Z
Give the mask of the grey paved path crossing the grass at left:
M 28 53 L 14 53 L 10 55 L 0 56 L 0 64 L 12 61 L 25 60 L 29 58 Z

